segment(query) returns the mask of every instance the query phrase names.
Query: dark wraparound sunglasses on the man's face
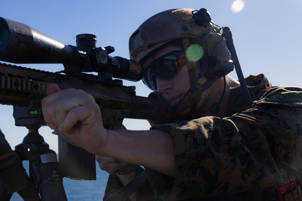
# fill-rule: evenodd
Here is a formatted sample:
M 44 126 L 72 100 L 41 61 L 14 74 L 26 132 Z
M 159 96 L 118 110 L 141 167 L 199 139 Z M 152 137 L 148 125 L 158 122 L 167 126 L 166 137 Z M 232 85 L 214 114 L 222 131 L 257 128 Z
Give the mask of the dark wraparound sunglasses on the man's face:
M 151 90 L 156 90 L 156 77 L 170 80 L 178 69 L 188 63 L 185 50 L 175 50 L 154 59 L 145 67 L 143 82 Z

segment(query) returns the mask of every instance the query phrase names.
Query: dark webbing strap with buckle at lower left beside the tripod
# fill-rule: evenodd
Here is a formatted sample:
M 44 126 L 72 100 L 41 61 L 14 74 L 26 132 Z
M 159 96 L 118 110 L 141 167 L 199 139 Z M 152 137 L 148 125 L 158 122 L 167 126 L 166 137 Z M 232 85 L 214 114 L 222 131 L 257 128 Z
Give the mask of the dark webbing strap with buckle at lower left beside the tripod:
M 0 176 L 7 193 L 18 192 L 24 201 L 39 201 L 37 190 L 31 183 L 16 152 L 11 150 L 0 130 Z

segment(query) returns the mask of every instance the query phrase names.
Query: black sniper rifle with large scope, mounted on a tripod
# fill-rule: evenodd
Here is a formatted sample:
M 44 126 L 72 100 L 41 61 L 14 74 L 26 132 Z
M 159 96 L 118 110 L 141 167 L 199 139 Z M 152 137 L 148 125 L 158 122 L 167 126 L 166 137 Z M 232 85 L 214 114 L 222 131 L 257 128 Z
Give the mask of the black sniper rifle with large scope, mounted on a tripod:
M 123 85 L 120 79 L 140 80 L 144 68 L 132 60 L 109 56 L 112 52 L 112 46 L 97 47 L 93 34 L 77 35 L 76 46 L 64 45 L 25 24 L 0 17 L 0 61 L 16 64 L 59 63 L 64 66 L 64 70 L 53 73 L 0 63 L 0 104 L 13 105 L 15 125 L 25 126 L 29 130 L 23 143 L 15 147 L 15 152 L 21 161 L 30 161 L 30 174 L 34 177 L 42 200 L 48 199 L 51 191 L 48 189 L 52 188 L 47 186 L 51 183 L 49 175 L 41 176 L 46 170 L 50 171 L 52 177 L 59 175 L 60 178 L 55 178 L 55 181 L 61 181 L 62 177 L 96 179 L 95 156 L 67 143 L 57 132 L 54 133 L 59 136 L 60 174 L 53 173 L 57 164 L 47 166 L 56 161 L 56 156 L 54 159 L 53 151 L 44 142 L 38 129 L 46 125 L 40 100 L 46 96 L 50 83 L 57 84 L 61 89 L 74 88 L 91 94 L 101 108 L 103 124 L 108 129 L 122 129 L 124 118 L 146 119 L 151 125 L 177 121 L 163 115 L 165 106 L 156 94 L 136 96 L 135 86 Z M 1 157 L 0 152 L 0 162 L 5 159 L 8 157 Z M 10 169 L 15 166 L 3 167 Z M 120 170 L 118 174 L 133 171 L 133 168 L 137 166 Z M 1 168 L 0 163 L 3 180 L 1 173 L 6 169 Z

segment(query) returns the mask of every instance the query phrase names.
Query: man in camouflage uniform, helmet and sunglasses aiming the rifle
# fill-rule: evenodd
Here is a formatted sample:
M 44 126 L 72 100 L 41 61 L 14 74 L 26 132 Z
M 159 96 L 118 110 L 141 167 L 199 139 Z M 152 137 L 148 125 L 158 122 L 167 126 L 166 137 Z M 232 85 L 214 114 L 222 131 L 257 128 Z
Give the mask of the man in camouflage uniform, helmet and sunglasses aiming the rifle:
M 230 53 L 204 10 L 201 17 L 188 9 L 164 11 L 130 37 L 130 57 L 144 65 L 144 83 L 170 106 L 194 85 L 176 109 L 184 121 L 149 131 L 105 130 L 93 98 L 49 87 L 44 119 L 67 141 L 98 155 L 101 169 L 111 173 L 104 200 L 141 172 L 112 174 L 129 163 L 149 172 L 131 200 L 265 200 L 262 191 L 300 177 L 302 89 L 249 76 L 249 106 L 243 86 L 227 75 Z M 203 50 L 195 60 L 194 44 Z

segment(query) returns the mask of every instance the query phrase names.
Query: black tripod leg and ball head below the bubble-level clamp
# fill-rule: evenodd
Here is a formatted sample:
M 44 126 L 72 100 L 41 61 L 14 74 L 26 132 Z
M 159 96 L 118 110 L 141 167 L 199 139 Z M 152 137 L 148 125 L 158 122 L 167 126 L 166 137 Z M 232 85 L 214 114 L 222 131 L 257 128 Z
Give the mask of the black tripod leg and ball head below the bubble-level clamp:
M 29 161 L 30 177 L 34 180 L 41 200 L 67 201 L 56 152 L 49 149 L 49 145 L 38 133 L 40 126 L 30 125 L 26 128 L 29 132 L 15 150 L 24 160 Z

